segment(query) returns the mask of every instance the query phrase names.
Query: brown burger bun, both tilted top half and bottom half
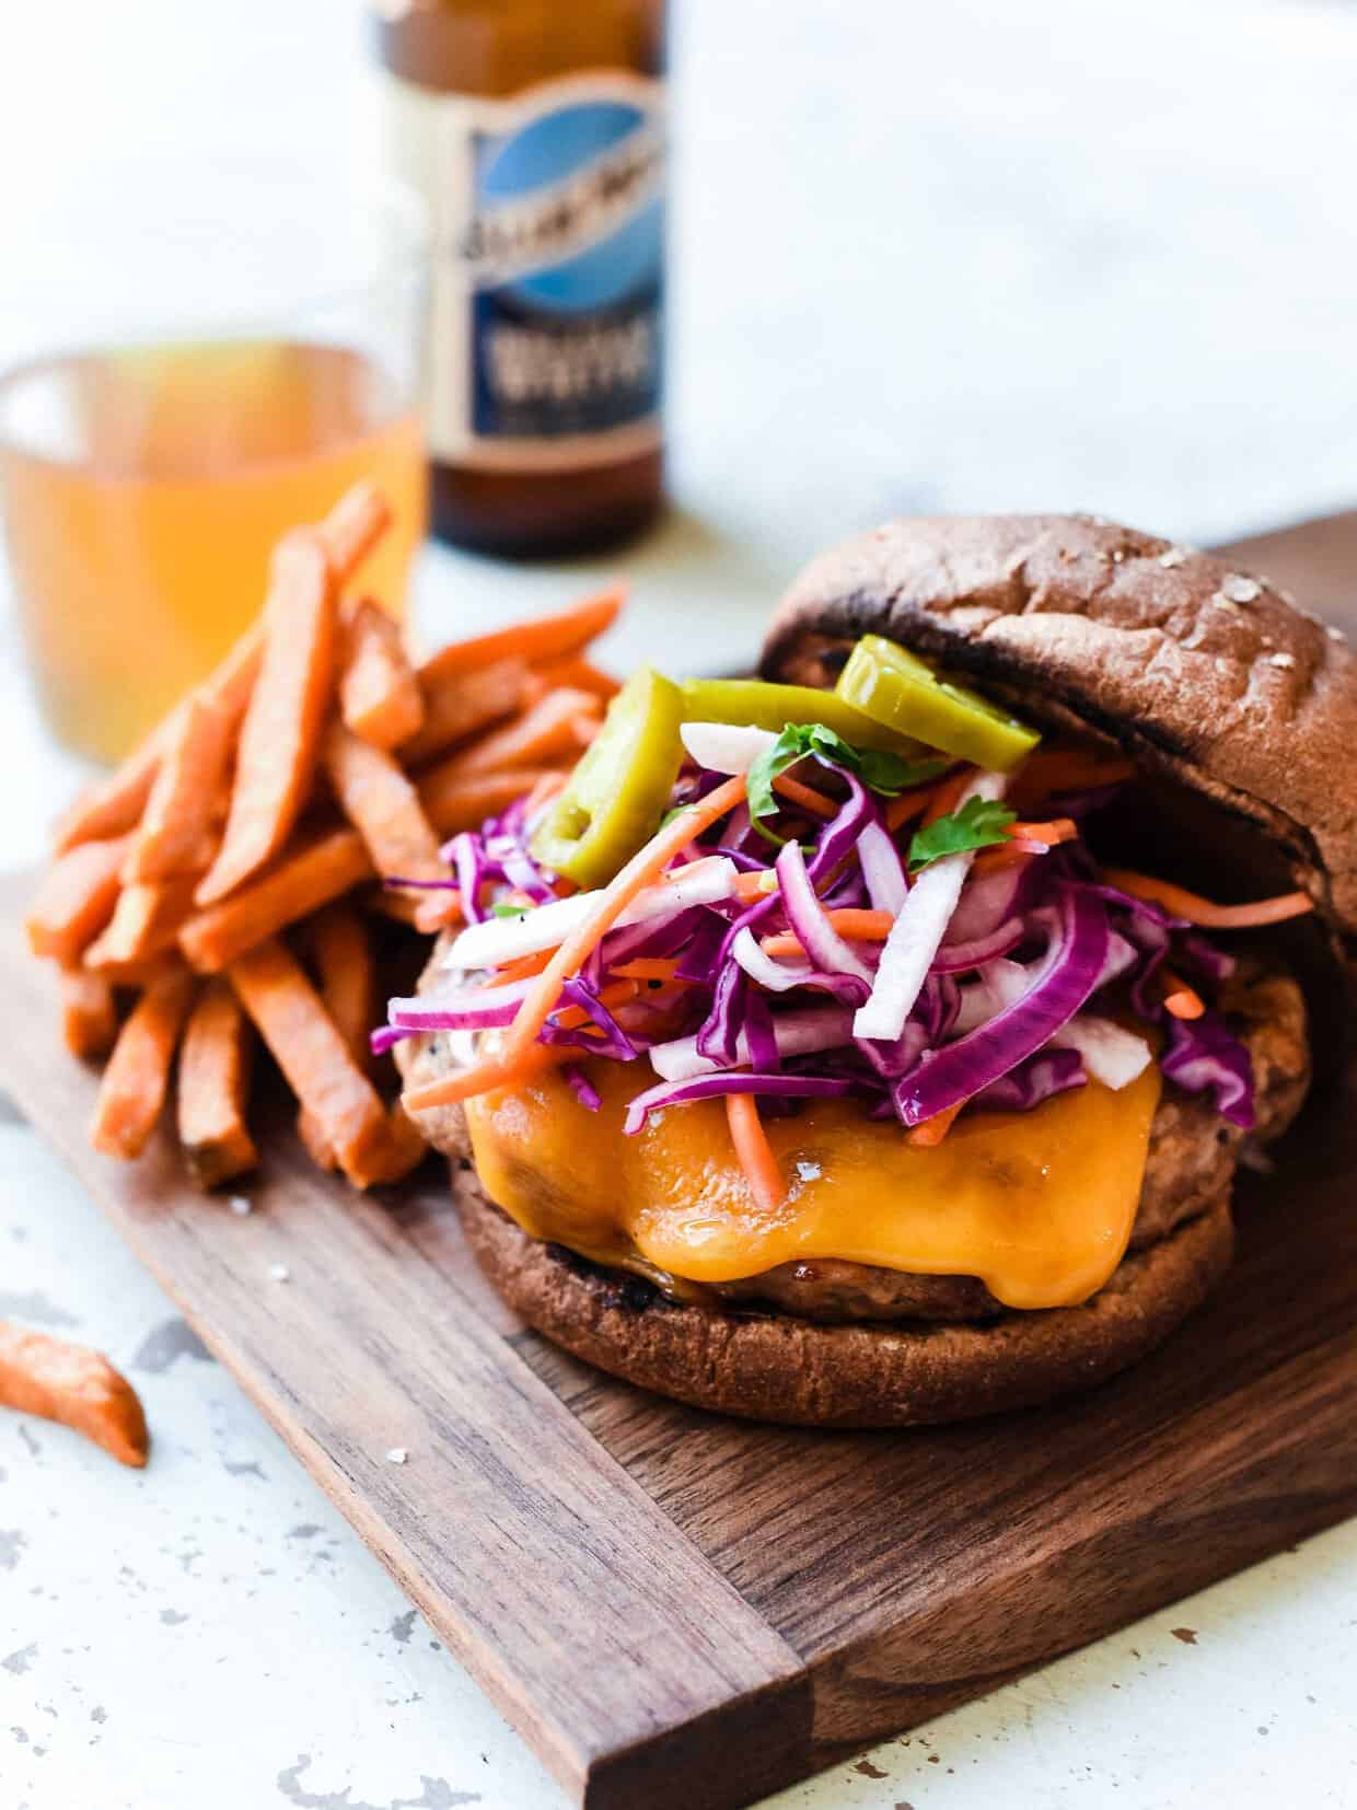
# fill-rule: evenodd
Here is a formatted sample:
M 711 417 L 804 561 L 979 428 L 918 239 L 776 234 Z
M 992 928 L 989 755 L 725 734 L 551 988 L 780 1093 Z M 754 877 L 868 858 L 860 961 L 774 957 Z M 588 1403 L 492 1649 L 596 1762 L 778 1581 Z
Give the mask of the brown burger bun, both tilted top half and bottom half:
M 1115 825 L 1125 865 L 1223 898 L 1305 889 L 1315 914 L 1276 943 L 1306 983 L 1323 1066 L 1357 927 L 1357 662 L 1341 637 L 1261 577 L 1078 516 L 926 518 L 852 539 L 791 586 L 762 672 L 832 686 L 861 634 L 1134 760 Z M 440 1133 L 465 1155 L 460 1113 Z M 465 1169 L 454 1195 L 499 1292 L 575 1356 L 697 1406 L 814 1426 L 964 1419 L 1089 1386 L 1158 1345 L 1232 1249 L 1227 1187 L 1080 1307 L 820 1325 L 673 1305 L 528 1238 Z

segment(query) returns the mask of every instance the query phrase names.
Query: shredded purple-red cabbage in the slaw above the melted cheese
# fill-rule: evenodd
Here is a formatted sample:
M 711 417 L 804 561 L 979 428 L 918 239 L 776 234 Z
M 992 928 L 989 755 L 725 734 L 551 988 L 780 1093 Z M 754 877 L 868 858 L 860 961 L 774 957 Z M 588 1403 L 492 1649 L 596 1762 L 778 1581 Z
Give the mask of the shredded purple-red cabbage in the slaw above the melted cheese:
M 1013 865 L 981 863 L 968 874 L 903 1034 L 892 1043 L 854 1037 L 854 1010 L 870 994 L 881 945 L 841 934 L 829 914 L 843 907 L 899 912 L 910 891 L 910 829 L 892 833 L 883 802 L 854 773 L 825 757 L 814 762 L 816 787 L 836 800 L 830 822 L 783 802 L 778 822 L 767 825 L 780 842 L 771 842 L 742 805 L 673 863 L 722 854 L 740 874 L 774 872 L 776 891 L 675 905 L 613 929 L 566 981 L 543 1026 L 543 1043 L 581 1059 L 635 1062 L 655 1052 L 655 1070 L 669 1079 L 637 1095 L 628 1131 L 639 1131 L 657 1108 L 722 1093 L 756 1093 L 771 1111 L 852 1095 L 867 1117 L 897 1117 L 905 1126 L 959 1104 L 1030 1111 L 1087 1081 L 1080 1053 L 1087 1035 L 1075 1026 L 1060 1041 L 1075 1014 L 1125 1023 L 1127 1003 L 1143 1026 L 1162 1030 L 1160 1066 L 1169 1081 L 1209 1093 L 1232 1124 L 1254 1122 L 1245 1046 L 1218 1010 L 1194 1021 L 1172 1017 L 1160 983 L 1167 963 L 1191 972 L 1210 997 L 1230 977 L 1232 957 L 1162 907 L 1102 883 L 1077 842 Z M 675 802 L 704 796 L 720 780 L 689 762 Z M 1084 824 L 1115 795 L 1116 787 L 1066 795 L 1058 813 Z M 454 836 L 443 854 L 456 878 L 432 885 L 458 887 L 469 921 L 483 921 L 510 892 L 514 903 L 554 900 L 555 876 L 534 858 L 530 831 L 519 800 L 479 831 Z M 769 936 L 794 936 L 803 956 L 769 954 Z M 615 970 L 655 959 L 675 963 L 673 981 L 637 985 L 635 997 L 603 1005 Z M 492 974 L 451 974 L 441 992 L 393 1001 L 391 1023 L 373 1034 L 373 1048 L 429 1030 L 503 1028 L 528 986 L 498 985 Z M 586 1023 L 561 1024 L 570 1006 L 583 1008 Z M 1080 1026 L 1089 1023 L 1080 1017 Z M 1095 1053 L 1089 1048 L 1089 1061 Z M 1136 1072 L 1120 1055 L 1118 1064 L 1095 1064 L 1111 1084 Z M 583 1070 L 572 1061 L 563 1073 L 595 1111 L 597 1090 Z

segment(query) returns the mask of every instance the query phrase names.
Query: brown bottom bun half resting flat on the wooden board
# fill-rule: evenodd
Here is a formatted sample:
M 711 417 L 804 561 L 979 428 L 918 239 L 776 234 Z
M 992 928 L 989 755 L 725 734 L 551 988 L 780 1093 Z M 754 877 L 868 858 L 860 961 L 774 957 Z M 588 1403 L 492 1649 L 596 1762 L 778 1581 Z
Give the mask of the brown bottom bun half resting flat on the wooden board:
M 675 1401 L 791 1426 L 966 1421 L 1091 1388 L 1165 1339 L 1234 1249 L 1221 1196 L 1124 1258 L 1080 1307 L 975 1325 L 816 1325 L 677 1305 L 637 1276 L 528 1238 L 469 1169 L 454 1171 L 452 1193 L 481 1269 L 546 1338 Z

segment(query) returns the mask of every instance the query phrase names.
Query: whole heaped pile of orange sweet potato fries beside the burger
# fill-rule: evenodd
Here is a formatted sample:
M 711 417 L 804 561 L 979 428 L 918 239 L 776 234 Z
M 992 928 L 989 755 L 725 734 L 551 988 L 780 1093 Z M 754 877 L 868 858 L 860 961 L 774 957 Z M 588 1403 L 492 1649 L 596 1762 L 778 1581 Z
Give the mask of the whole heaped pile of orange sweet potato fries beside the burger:
M 255 1034 L 318 1164 L 371 1187 L 423 1155 L 367 1034 L 391 919 L 436 932 L 458 896 L 384 880 L 451 881 L 443 838 L 574 766 L 617 690 L 586 650 L 621 594 L 413 664 L 353 590 L 387 519 L 358 485 L 286 536 L 255 628 L 58 825 L 27 932 L 67 1046 L 109 1057 L 90 1138 L 112 1157 L 143 1151 L 174 1081 L 195 1180 L 251 1169 Z

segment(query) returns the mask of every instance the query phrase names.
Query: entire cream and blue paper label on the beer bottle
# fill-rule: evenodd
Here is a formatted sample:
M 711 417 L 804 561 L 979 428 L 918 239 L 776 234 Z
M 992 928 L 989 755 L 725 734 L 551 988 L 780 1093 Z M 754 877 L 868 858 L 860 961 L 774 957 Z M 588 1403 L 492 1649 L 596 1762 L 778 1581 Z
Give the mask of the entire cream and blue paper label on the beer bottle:
M 507 101 L 394 87 L 398 161 L 434 232 L 434 458 L 574 471 L 657 449 L 662 85 L 590 71 Z

